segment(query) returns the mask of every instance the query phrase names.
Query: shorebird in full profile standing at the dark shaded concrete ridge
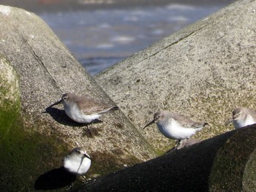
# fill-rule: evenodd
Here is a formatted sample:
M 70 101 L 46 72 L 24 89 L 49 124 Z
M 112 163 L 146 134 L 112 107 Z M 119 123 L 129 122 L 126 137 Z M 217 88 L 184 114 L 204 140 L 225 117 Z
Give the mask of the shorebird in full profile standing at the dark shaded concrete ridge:
M 159 131 L 169 139 L 178 139 L 178 145 L 182 139 L 189 139 L 192 135 L 200 131 L 208 123 L 196 123 L 184 115 L 175 112 L 159 111 L 154 114 L 154 120 L 145 127 L 157 123 Z

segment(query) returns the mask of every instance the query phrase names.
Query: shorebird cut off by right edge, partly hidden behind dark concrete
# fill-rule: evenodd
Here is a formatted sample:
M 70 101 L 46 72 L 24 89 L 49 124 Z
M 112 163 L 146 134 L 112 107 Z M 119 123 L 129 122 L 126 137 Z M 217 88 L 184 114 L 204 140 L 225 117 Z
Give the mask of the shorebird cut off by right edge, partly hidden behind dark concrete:
M 233 123 L 235 128 L 242 128 L 256 123 L 256 111 L 246 108 L 238 107 L 232 112 L 232 118 L 226 121 L 225 126 Z

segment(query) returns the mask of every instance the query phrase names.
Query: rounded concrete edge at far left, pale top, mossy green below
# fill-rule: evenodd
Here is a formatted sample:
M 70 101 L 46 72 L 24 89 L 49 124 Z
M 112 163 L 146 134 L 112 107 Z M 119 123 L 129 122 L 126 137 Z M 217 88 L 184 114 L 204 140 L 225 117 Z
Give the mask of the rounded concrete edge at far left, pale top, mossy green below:
M 13 69 L 10 61 L 4 58 L 0 53 L 0 150 L 4 156 L 10 155 L 7 153 L 6 144 L 10 129 L 14 126 L 20 113 L 20 90 L 18 86 L 18 77 Z M 7 159 L 9 158 L 9 159 Z M 5 183 L 7 177 L 13 177 L 7 174 L 8 161 L 10 156 L 0 159 L 1 172 L 0 183 Z

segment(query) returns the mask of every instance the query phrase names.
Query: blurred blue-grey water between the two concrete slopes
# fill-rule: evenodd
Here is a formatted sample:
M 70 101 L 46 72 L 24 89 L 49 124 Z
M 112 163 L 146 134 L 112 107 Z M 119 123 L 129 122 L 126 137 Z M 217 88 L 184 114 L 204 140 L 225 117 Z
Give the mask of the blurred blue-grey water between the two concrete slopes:
M 234 0 L 8 0 L 35 12 L 97 74 Z

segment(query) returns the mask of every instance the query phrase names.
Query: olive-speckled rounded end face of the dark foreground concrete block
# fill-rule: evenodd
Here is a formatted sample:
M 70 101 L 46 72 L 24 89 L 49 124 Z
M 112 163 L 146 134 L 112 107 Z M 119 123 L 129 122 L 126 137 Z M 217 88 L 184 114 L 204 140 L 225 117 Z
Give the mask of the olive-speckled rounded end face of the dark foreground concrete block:
M 255 191 L 256 127 L 248 127 L 236 131 L 217 153 L 209 176 L 210 191 Z

